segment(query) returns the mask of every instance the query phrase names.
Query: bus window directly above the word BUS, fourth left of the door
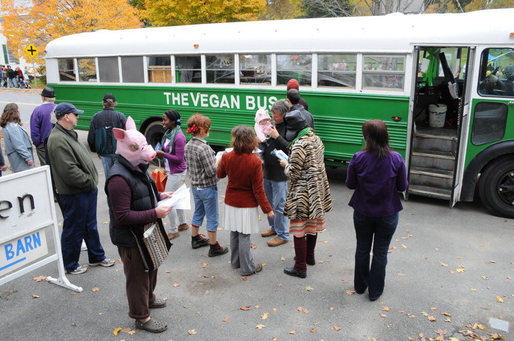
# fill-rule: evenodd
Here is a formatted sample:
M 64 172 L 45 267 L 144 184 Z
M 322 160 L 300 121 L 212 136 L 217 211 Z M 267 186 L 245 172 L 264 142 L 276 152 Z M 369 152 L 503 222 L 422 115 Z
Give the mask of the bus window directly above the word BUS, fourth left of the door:
M 271 54 L 240 54 L 241 84 L 271 85 Z

